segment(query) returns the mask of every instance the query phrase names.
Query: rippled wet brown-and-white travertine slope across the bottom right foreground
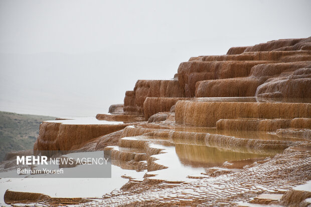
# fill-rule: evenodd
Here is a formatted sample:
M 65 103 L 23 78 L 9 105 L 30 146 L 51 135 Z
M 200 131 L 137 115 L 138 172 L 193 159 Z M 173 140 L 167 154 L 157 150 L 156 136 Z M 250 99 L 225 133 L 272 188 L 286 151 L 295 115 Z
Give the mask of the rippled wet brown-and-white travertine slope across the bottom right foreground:
M 297 159 L 301 156 L 304 158 Z M 121 191 L 98 204 L 122 204 L 123 206 L 238 205 L 249 202 L 262 193 L 284 194 L 292 187 L 303 184 L 311 179 L 310 167 L 311 158 L 307 151 L 289 148 L 283 154 L 264 163 L 255 163 L 242 171 L 219 174 L 216 179 L 197 179 L 194 182 L 174 187 L 166 187 L 161 183 L 147 185 L 148 187 L 137 184 L 135 190 Z M 84 204 L 84 206 L 93 205 Z

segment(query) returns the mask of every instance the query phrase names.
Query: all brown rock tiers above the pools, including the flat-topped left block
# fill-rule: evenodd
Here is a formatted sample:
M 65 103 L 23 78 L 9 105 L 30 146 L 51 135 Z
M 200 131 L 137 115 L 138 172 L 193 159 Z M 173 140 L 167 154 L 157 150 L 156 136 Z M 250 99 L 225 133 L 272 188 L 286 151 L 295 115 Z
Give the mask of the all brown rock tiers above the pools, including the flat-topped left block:
M 311 37 L 234 47 L 226 55 L 190 58 L 171 80 L 138 80 L 124 104 L 96 116 L 122 123 L 43 122 L 34 150 L 102 148 L 110 140 L 103 136 L 150 117 L 218 130 L 310 129 L 310 86 Z M 271 101 L 285 103 L 261 103 Z

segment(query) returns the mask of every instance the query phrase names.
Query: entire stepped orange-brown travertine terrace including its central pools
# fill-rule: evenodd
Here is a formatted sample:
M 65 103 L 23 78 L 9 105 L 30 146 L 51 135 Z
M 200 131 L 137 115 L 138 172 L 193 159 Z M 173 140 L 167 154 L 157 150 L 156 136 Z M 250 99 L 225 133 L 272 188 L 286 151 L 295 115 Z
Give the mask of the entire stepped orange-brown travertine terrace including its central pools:
M 110 150 L 114 165 L 144 172 L 83 205 L 311 203 L 311 38 L 192 57 L 96 118 L 43 122 L 34 146 Z

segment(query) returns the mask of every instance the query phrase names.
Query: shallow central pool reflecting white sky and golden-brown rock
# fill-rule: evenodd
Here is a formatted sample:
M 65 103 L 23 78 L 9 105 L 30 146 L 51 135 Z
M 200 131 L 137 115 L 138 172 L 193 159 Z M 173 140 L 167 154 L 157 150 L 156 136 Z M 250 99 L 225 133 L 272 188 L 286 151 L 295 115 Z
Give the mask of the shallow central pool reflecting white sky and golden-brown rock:
M 149 142 L 149 147 L 163 149 L 161 154 L 152 155 L 157 158 L 157 164 L 168 167 L 166 169 L 149 171 L 154 175 L 150 179 L 167 181 L 192 181 L 190 177 L 205 176 L 202 173 L 209 167 L 221 166 L 225 162 L 244 160 L 249 158 L 267 157 L 275 153 L 236 152 L 216 147 L 192 144 L 174 144 L 163 137 L 126 137 L 130 140 Z

